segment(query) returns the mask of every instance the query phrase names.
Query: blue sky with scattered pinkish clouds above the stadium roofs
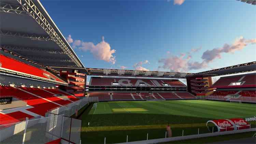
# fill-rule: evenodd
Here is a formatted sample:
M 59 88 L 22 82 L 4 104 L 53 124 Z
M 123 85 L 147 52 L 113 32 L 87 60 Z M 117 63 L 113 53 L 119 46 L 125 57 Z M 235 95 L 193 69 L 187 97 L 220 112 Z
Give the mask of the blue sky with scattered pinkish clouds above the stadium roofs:
M 240 1 L 41 3 L 85 67 L 200 72 L 256 60 L 256 6 Z

